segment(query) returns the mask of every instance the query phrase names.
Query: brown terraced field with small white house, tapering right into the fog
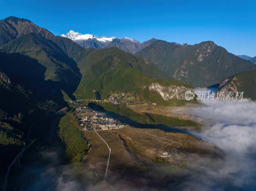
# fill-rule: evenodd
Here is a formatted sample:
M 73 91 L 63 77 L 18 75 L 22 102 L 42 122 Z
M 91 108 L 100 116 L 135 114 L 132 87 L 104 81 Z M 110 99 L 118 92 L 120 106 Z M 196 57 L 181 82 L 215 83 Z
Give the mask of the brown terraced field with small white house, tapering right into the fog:
M 196 153 L 214 153 L 216 150 L 212 143 L 183 133 L 166 133 L 159 129 L 133 127 L 112 131 L 126 141 L 129 150 L 135 153 L 138 158 L 146 160 L 159 157 L 165 150 L 172 152 L 177 148 Z

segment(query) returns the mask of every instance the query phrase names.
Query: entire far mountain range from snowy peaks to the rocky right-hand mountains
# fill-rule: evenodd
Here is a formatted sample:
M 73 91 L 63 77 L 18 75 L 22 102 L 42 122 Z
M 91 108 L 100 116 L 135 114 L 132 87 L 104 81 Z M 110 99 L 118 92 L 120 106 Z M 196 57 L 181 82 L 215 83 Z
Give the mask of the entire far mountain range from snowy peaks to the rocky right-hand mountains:
M 188 82 L 196 87 L 219 83 L 221 79 L 244 70 L 256 68 L 250 61 L 256 58 L 233 55 L 212 41 L 188 45 L 152 38 L 140 43 L 130 38 L 97 37 L 70 31 L 62 37 L 69 38 L 84 48 L 117 47 L 125 52 L 146 57 L 154 62 L 168 76 Z M 243 58 L 243 59 L 242 59 Z

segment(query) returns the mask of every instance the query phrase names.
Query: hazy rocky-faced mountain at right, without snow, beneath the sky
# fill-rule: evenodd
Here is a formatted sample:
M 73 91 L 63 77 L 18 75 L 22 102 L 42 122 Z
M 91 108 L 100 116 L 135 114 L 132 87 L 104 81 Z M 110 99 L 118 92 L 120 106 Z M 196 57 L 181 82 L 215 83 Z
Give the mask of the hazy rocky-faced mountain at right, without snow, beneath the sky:
M 207 87 L 244 70 L 256 69 L 252 62 L 212 41 L 177 46 L 158 40 L 135 55 L 147 57 L 169 76 L 195 87 Z

